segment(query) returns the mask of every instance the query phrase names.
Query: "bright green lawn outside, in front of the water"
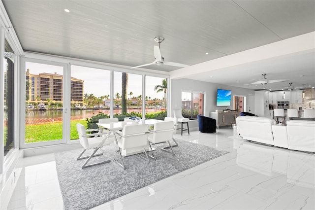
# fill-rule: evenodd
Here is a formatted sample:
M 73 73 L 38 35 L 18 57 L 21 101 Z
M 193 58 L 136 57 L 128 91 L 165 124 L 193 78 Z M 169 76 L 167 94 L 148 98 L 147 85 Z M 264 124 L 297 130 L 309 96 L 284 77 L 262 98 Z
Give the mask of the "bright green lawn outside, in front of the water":
M 76 124 L 81 123 L 85 127 L 87 126 L 87 121 L 84 120 L 71 120 L 70 123 L 70 140 L 79 139 Z M 25 142 L 39 142 L 48 140 L 61 140 L 63 139 L 63 123 L 47 123 L 40 125 L 26 125 L 25 127 Z

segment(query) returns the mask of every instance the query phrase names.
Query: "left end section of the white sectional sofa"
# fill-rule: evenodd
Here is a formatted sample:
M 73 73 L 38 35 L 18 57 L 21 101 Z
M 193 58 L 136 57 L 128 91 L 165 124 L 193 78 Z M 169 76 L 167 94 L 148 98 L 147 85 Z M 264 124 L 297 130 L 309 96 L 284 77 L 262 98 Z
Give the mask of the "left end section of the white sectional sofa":
M 275 145 L 272 125 L 276 125 L 276 121 L 267 117 L 239 116 L 236 118 L 237 132 L 240 137 Z

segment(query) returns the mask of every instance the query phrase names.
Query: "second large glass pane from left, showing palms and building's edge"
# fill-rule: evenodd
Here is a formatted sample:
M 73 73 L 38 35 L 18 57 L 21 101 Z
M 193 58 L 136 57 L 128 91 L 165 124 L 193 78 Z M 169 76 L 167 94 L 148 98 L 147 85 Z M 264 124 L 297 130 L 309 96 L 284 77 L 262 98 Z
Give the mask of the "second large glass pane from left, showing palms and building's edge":
M 70 89 L 70 140 L 77 140 L 77 123 L 93 129 L 110 117 L 110 71 L 71 65 Z

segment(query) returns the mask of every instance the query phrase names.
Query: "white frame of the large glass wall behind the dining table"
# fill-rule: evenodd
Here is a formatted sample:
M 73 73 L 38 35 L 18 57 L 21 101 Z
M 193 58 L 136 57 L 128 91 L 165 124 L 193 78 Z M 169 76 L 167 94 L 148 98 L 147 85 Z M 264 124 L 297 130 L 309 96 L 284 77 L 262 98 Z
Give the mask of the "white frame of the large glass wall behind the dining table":
M 25 64 L 26 62 L 34 62 L 34 63 L 43 63 L 43 64 L 48 64 L 48 65 L 57 65 L 57 66 L 64 66 L 65 69 L 63 70 L 63 76 L 64 76 L 64 84 L 63 87 L 66 88 L 63 93 L 64 97 L 64 102 L 67 102 L 68 105 L 64 105 L 66 109 L 70 109 L 70 95 L 71 95 L 71 65 L 75 66 L 81 66 L 81 67 L 87 67 L 87 68 L 95 68 L 95 69 L 101 69 L 101 70 L 110 70 L 111 72 L 111 90 L 110 90 L 110 95 L 113 96 L 113 90 L 114 90 L 114 71 L 118 72 L 126 72 L 126 73 L 132 73 L 132 74 L 140 74 L 142 75 L 142 83 L 143 83 L 143 88 L 142 88 L 142 95 L 143 100 L 145 100 L 145 76 L 154 76 L 154 77 L 159 77 L 159 78 L 166 78 L 169 80 L 169 75 L 167 74 L 158 74 L 158 73 L 151 73 L 151 72 L 146 72 L 146 71 L 140 71 L 140 70 L 130 70 L 130 69 L 125 69 L 125 68 L 117 68 L 113 66 L 107 66 L 105 64 L 102 64 L 100 62 L 86 62 L 86 61 L 81 61 L 81 60 L 72 60 L 72 59 L 67 59 L 63 57 L 54 57 L 51 55 L 43 55 L 43 54 L 36 54 L 32 52 L 25 52 L 25 56 L 21 57 L 21 65 L 20 65 L 20 76 L 19 76 L 19 81 L 21 83 L 21 87 L 19 88 L 19 95 L 20 97 L 20 103 L 25 104 Z M 59 65 L 58 65 L 59 64 Z M 24 84 L 24 86 L 23 86 Z M 169 93 L 169 91 L 168 91 Z M 21 95 L 22 94 L 22 95 Z M 24 101 L 23 101 L 24 100 Z M 168 102 L 170 98 L 167 99 Z M 110 109 L 110 117 L 114 117 L 113 114 L 113 102 L 114 100 L 111 99 L 111 109 Z M 170 103 L 167 103 L 170 104 Z M 63 127 L 63 132 L 66 132 L 63 134 L 63 141 L 47 141 L 46 144 L 41 144 L 41 142 L 38 143 L 32 143 L 29 145 L 25 144 L 25 106 L 20 106 L 20 113 L 19 115 L 19 126 L 20 126 L 20 148 L 33 148 L 33 147 L 39 147 L 39 146 L 46 146 L 46 145 L 57 145 L 57 144 L 64 144 L 64 143 L 74 143 L 79 140 L 70 140 L 70 112 L 67 112 L 67 115 L 63 116 L 63 124 L 65 127 Z M 142 114 L 145 114 L 145 103 L 142 103 Z

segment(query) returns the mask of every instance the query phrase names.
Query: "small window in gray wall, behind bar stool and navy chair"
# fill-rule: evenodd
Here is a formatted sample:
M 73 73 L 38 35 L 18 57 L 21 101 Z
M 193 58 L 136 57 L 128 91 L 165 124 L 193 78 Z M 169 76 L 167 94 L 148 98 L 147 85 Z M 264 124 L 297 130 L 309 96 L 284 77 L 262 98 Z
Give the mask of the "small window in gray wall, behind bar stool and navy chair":
M 196 92 L 182 92 L 182 115 L 189 119 L 197 119 L 203 115 L 204 94 Z

